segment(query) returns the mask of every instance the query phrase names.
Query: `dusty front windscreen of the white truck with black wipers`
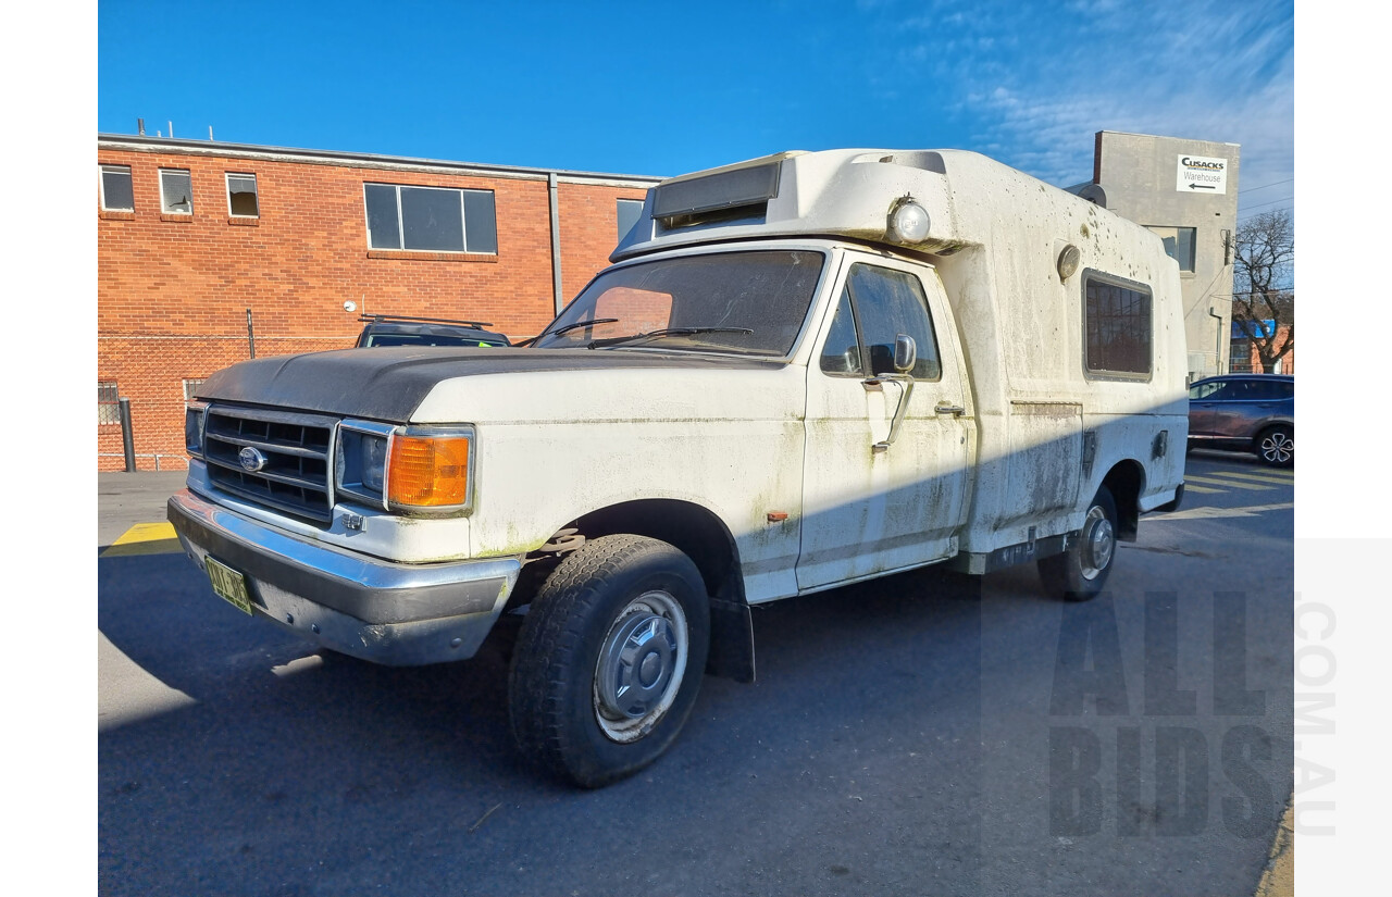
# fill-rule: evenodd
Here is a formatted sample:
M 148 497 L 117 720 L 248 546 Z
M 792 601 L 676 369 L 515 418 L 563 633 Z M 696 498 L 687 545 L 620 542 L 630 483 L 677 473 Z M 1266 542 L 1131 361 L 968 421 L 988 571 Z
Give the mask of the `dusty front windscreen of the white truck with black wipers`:
M 612 268 L 535 345 L 781 357 L 798 339 L 824 261 L 820 252 L 774 249 Z

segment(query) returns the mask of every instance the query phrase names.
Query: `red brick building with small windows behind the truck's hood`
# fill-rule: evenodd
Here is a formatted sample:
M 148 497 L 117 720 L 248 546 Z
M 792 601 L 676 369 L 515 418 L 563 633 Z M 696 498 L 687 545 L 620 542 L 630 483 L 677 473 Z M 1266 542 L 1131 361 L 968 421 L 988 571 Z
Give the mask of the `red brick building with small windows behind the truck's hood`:
M 657 178 L 97 135 L 97 469 L 184 469 L 184 403 L 251 357 L 348 348 L 358 317 L 535 335 Z

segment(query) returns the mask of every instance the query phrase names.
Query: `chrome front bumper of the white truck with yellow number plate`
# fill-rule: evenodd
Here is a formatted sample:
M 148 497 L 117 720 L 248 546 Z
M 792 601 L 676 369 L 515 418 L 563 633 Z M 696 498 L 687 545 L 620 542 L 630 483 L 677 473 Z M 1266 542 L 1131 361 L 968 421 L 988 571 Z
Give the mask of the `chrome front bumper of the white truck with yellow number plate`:
M 168 519 L 199 567 L 212 555 L 246 577 L 255 613 L 388 666 L 473 656 L 522 569 L 516 558 L 393 563 L 290 535 L 188 490 L 170 496 Z

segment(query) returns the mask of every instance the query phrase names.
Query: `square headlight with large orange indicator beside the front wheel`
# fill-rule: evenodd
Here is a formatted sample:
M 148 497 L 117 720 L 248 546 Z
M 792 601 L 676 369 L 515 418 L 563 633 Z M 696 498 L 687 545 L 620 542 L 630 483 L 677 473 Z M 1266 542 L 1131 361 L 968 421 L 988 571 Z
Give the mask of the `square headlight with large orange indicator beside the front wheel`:
M 338 492 L 384 510 L 466 510 L 473 427 L 393 427 L 345 420 L 338 430 Z

